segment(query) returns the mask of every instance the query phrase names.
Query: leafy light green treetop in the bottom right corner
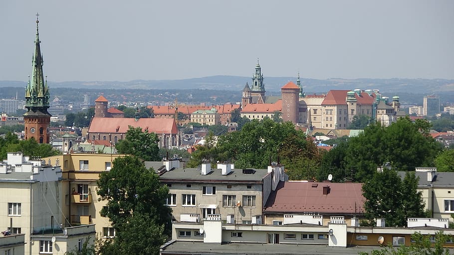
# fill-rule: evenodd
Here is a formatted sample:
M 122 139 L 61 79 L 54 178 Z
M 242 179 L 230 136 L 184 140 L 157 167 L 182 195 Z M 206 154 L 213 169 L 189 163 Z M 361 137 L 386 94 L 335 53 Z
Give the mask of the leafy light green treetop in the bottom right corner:
M 374 250 L 371 255 L 449 255 L 450 249 L 444 248 L 445 243 L 452 239 L 450 235 L 444 234 L 443 231 L 435 233 L 432 242 L 432 236 L 423 235 L 415 232 L 412 235 L 411 246 L 393 247 L 392 244 L 382 247 L 380 250 Z M 368 255 L 367 252 L 360 252 L 359 255 Z

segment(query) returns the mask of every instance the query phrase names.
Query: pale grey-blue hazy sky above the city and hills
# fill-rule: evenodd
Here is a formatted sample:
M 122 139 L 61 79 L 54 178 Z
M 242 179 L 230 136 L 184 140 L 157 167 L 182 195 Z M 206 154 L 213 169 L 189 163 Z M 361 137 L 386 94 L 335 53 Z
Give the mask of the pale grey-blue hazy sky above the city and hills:
M 2 0 L 0 80 L 454 79 L 453 0 Z

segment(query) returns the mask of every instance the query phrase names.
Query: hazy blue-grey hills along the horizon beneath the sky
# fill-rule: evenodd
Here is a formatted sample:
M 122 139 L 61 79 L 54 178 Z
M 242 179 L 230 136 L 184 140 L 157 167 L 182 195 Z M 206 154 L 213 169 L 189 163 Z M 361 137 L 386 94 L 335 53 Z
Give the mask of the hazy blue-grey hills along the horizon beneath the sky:
M 68 81 L 51 82 L 51 88 L 74 88 L 74 89 L 212 89 L 241 91 L 246 82 L 250 85 L 250 77 L 241 76 L 209 76 L 183 80 L 134 80 L 128 82 L 119 81 Z M 295 77 L 264 77 L 265 90 L 271 94 L 280 91 L 280 88 L 288 81 L 296 81 Z M 329 90 L 346 89 L 379 89 L 386 94 L 398 92 L 411 92 L 418 94 L 441 94 L 454 92 L 454 80 L 445 79 L 342 79 L 331 78 L 327 80 L 301 78 L 301 84 L 306 92 L 328 92 Z M 0 81 L 0 87 L 22 87 L 26 82 Z

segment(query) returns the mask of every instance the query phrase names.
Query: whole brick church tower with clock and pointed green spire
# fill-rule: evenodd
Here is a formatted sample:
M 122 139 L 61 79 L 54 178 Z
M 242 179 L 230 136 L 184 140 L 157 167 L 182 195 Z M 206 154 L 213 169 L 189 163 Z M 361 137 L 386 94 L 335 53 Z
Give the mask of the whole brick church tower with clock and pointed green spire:
M 44 82 L 42 73 L 42 55 L 39 43 L 38 13 L 36 13 L 36 40 L 33 53 L 31 80 L 28 78 L 25 88 L 25 108 L 27 112 L 23 115 L 25 139 L 34 138 L 38 143 L 49 143 L 49 125 L 51 115 L 49 109 L 49 88 L 47 77 Z

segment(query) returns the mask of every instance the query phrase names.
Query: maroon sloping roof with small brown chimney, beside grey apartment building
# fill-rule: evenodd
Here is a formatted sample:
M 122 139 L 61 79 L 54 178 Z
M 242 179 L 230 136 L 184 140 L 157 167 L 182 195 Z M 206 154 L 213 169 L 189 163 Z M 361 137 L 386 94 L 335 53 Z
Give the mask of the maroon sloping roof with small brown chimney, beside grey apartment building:
M 329 186 L 328 195 L 323 187 Z M 354 214 L 363 211 L 366 200 L 362 183 L 280 182 L 266 202 L 266 212 Z M 355 208 L 356 206 L 356 208 Z

